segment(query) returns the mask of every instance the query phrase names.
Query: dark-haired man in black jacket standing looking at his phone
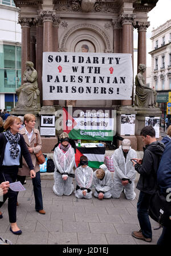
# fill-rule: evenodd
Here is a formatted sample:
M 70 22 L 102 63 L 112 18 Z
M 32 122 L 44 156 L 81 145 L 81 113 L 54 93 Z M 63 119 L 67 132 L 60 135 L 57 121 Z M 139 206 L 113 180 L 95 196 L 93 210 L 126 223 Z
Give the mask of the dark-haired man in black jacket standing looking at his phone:
M 157 169 L 165 145 L 161 141 L 156 141 L 156 132 L 151 125 L 144 127 L 140 135 L 145 143 L 144 157 L 143 160 L 136 159 L 137 163 L 133 162 L 133 166 L 135 166 L 135 170 L 140 174 L 140 179 L 137 183 L 137 188 L 140 190 L 137 214 L 141 229 L 133 231 L 132 236 L 146 242 L 151 242 L 152 228 L 148 215 L 149 199 L 156 192 Z

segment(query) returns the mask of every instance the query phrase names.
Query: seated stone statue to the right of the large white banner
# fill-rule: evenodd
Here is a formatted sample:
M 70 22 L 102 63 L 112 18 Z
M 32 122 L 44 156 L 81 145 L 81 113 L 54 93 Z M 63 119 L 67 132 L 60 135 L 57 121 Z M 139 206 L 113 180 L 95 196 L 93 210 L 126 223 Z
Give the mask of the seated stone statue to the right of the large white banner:
M 140 108 L 156 107 L 157 92 L 145 85 L 145 79 L 143 77 L 146 66 L 144 64 L 140 64 L 139 69 L 140 72 L 135 77 L 135 105 Z

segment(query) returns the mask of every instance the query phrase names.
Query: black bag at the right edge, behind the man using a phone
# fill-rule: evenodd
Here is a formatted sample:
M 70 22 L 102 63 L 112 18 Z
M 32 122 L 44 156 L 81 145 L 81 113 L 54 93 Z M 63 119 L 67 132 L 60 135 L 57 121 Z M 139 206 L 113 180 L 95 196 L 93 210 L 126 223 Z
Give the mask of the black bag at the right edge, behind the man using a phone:
M 171 227 L 171 202 L 159 190 L 150 197 L 149 216 L 161 226 Z

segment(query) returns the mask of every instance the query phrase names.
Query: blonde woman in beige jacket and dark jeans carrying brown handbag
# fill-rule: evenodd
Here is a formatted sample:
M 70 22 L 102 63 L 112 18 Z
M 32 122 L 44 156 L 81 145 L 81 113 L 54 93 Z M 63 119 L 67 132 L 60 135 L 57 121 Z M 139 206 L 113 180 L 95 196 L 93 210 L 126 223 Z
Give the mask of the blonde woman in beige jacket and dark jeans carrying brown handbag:
M 25 128 L 21 129 L 21 133 L 25 139 L 28 151 L 30 152 L 32 163 L 34 165 L 34 170 L 36 172 L 35 179 L 32 179 L 32 185 L 34 189 L 35 197 L 35 210 L 40 214 L 46 214 L 43 210 L 43 199 L 42 199 L 42 188 L 40 180 L 40 166 L 37 163 L 35 153 L 38 153 L 42 148 L 42 141 L 38 129 L 35 129 L 35 115 L 26 114 L 24 116 Z M 17 180 L 24 184 L 26 176 L 29 175 L 29 169 L 27 163 L 23 159 L 23 166 L 19 168 Z

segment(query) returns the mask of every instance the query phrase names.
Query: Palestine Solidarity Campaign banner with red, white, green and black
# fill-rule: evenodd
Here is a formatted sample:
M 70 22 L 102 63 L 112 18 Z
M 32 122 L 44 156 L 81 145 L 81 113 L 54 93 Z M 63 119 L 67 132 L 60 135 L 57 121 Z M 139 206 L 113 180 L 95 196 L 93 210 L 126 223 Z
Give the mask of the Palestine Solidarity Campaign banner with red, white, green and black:
M 113 141 L 116 134 L 116 110 L 63 108 L 63 131 L 74 140 Z

